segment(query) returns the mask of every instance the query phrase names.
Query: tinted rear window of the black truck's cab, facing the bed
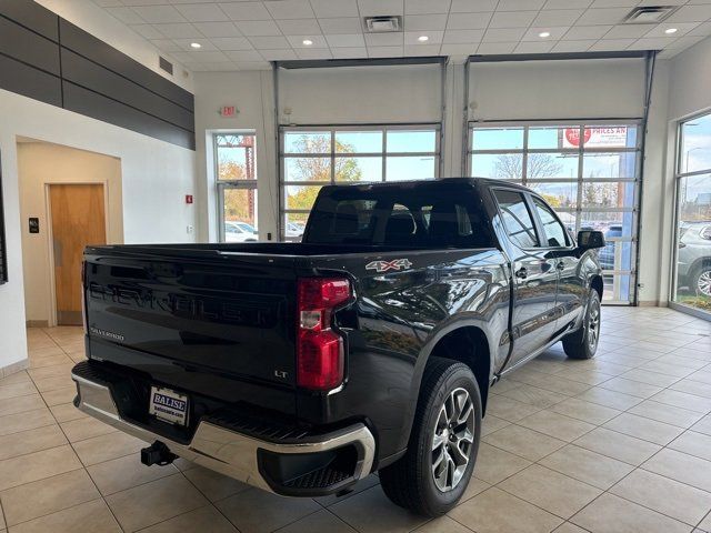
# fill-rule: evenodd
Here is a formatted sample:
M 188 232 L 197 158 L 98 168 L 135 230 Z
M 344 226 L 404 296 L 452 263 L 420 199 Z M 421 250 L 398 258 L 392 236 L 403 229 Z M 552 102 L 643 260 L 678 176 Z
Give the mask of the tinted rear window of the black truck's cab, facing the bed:
M 488 221 L 472 208 L 472 191 L 439 185 L 343 188 L 324 191 L 303 242 L 430 248 L 490 248 Z

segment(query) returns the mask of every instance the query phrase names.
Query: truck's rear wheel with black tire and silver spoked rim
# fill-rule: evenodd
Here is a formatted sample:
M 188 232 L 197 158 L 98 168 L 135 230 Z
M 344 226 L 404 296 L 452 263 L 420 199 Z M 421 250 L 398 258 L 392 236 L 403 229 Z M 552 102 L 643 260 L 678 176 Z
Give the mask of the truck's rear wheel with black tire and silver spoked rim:
M 447 425 L 454 418 L 463 422 Z M 435 517 L 447 513 L 467 490 L 480 436 L 481 393 L 471 370 L 450 359 L 432 358 L 422 376 L 408 451 L 380 471 L 385 495 L 417 514 Z M 441 460 L 437 467 L 435 460 Z

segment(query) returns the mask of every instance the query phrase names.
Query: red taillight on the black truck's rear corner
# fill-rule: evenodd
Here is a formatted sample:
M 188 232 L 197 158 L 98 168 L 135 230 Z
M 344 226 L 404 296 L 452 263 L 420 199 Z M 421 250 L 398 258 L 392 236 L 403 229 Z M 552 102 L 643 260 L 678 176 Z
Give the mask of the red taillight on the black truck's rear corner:
M 298 289 L 297 384 L 326 391 L 343 382 L 343 339 L 331 314 L 351 298 L 342 278 L 302 278 Z

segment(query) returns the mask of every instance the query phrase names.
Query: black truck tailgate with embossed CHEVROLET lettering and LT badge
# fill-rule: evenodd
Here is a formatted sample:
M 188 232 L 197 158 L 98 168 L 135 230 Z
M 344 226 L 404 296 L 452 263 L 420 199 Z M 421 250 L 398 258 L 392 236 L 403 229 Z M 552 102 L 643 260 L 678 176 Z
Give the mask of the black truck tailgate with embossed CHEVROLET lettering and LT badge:
M 91 355 L 293 389 L 297 258 L 177 250 L 88 249 Z

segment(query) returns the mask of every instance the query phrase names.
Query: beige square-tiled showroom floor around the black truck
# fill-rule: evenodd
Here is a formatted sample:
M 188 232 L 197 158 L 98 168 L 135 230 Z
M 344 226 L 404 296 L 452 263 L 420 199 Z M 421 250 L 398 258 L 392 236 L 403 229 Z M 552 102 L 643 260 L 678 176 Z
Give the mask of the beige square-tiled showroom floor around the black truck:
M 492 389 L 474 479 L 449 516 L 391 505 L 378 477 L 291 500 L 144 444 L 72 405 L 81 331 L 30 330 L 30 369 L 0 380 L 0 532 L 711 531 L 711 323 L 603 310 L 592 361 L 559 345 Z

